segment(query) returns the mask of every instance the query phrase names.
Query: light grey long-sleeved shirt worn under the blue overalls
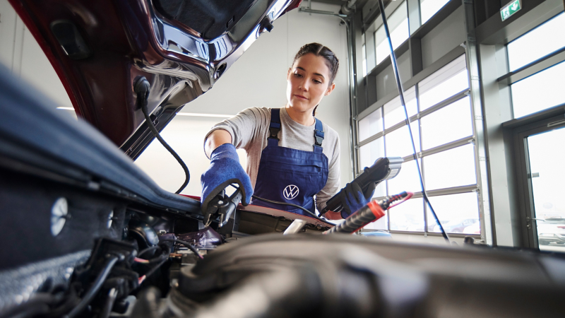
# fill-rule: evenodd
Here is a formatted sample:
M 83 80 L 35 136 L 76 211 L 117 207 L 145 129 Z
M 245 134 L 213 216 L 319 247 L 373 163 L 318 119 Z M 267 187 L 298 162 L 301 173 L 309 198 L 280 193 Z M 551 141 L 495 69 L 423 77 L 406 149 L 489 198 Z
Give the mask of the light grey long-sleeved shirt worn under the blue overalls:
M 248 108 L 230 119 L 213 126 L 204 141 L 217 129 L 224 129 L 232 135 L 235 148 L 244 148 L 247 152 L 247 174 L 251 185 L 255 187 L 261 152 L 267 146 L 268 129 L 270 124 L 270 108 Z M 278 146 L 301 151 L 314 151 L 314 124 L 304 126 L 292 120 L 285 108 L 280 109 L 280 131 Z M 318 211 L 326 207 L 326 201 L 338 193 L 340 187 L 340 139 L 338 133 L 330 126 L 323 124 L 324 139 L 323 154 L 328 157 L 328 181 L 326 186 L 316 194 Z

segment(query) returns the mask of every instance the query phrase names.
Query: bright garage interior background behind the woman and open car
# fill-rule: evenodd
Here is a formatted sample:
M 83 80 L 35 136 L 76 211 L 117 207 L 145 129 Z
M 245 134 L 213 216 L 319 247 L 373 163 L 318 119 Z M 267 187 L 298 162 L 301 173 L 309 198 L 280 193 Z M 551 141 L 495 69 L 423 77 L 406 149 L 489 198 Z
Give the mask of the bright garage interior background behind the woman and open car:
M 386 1 L 429 200 L 453 242 L 565 251 L 565 71 L 562 0 Z M 505 16 L 514 2 L 520 7 Z M 509 14 L 509 13 L 508 13 Z M 193 172 L 208 159 L 203 136 L 247 107 L 282 107 L 292 55 L 307 42 L 341 61 L 336 90 L 318 117 L 341 139 L 343 186 L 380 157 L 405 160 L 375 199 L 415 192 L 366 231 L 393 240 L 443 244 L 424 204 L 408 126 L 376 0 L 302 1 L 162 131 Z M 7 0 L 0 0 L 0 61 L 75 116 L 57 74 Z M 245 166 L 245 154 L 240 153 Z M 182 170 L 154 141 L 136 160 L 174 192 Z M 199 178 L 183 194 L 200 195 Z

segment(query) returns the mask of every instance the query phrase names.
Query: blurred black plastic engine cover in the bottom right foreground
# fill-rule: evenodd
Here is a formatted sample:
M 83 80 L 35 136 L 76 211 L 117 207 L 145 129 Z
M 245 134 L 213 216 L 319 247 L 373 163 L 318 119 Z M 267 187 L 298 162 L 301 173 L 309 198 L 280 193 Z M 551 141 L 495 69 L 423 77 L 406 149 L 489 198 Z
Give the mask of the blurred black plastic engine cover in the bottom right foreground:
M 232 318 L 564 317 L 565 258 L 356 235 L 261 235 L 183 270 L 177 290 L 186 303 L 203 302 L 198 313 L 237 308 Z M 263 295 L 264 311 L 242 293 Z

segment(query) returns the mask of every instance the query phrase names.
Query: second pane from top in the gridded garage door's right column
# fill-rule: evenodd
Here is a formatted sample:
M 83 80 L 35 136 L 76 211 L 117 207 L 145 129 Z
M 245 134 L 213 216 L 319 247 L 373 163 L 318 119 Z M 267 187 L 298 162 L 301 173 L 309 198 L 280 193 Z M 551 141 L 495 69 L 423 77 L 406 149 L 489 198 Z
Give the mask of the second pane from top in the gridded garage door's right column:
M 422 121 L 422 148 L 424 150 L 472 136 L 470 98 L 466 97 L 453 102 L 420 120 Z

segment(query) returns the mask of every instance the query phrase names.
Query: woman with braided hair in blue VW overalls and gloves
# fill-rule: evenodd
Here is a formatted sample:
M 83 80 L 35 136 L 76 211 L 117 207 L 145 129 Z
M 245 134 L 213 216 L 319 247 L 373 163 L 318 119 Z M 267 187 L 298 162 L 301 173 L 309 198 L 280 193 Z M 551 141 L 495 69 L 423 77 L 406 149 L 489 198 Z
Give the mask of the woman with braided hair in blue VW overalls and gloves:
M 204 150 L 211 159 L 201 177 L 202 209 L 229 184 L 242 189 L 242 204 L 251 195 L 296 204 L 315 213 L 338 192 L 340 184 L 338 134 L 316 119 L 316 108 L 335 88 L 339 61 L 318 43 L 304 45 L 287 72 L 287 104 L 280 109 L 248 108 L 208 132 Z M 239 165 L 236 148 L 247 151 L 247 173 Z M 342 213 L 345 218 L 369 201 L 357 184 L 348 184 Z M 255 191 L 254 191 L 255 189 Z M 374 188 L 369 192 L 374 192 Z M 372 192 L 368 194 L 371 199 Z M 314 202 L 314 196 L 316 196 Z M 307 215 L 299 208 L 254 199 L 253 204 Z

